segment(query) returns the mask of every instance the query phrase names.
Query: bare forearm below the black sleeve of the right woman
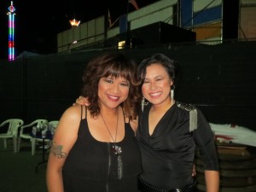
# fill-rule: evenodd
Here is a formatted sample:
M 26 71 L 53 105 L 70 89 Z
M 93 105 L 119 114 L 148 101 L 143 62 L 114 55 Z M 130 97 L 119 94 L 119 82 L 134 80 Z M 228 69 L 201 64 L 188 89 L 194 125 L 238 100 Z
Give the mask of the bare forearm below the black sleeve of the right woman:
M 205 171 L 207 192 L 218 192 L 219 190 L 219 172 Z

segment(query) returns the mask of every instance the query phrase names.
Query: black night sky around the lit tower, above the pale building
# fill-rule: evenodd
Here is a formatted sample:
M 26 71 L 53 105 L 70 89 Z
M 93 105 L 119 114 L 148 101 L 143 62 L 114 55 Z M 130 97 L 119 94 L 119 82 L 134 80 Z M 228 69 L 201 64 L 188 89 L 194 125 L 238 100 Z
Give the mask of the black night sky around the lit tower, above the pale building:
M 140 8 L 157 0 L 137 0 Z M 128 0 L 106 1 L 32 1 L 14 0 L 15 6 L 15 55 L 23 51 L 38 54 L 56 52 L 57 34 L 69 29 L 69 20 L 81 20 L 81 23 L 107 15 L 108 9 L 112 21 L 127 12 Z M 0 59 L 8 58 L 8 7 L 10 1 L 0 4 Z M 129 12 L 135 10 L 129 3 Z

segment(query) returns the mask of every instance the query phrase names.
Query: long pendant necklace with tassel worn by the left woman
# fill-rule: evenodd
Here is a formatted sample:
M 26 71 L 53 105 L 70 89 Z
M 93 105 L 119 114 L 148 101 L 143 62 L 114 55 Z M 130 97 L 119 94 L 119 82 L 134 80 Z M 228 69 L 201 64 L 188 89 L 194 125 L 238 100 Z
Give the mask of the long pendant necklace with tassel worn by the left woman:
M 101 117 L 102 117 L 102 113 L 100 113 L 100 114 L 101 114 Z M 113 136 L 112 136 L 111 132 L 109 131 L 108 125 L 106 124 L 106 122 L 103 119 L 103 117 L 102 117 L 102 120 L 103 120 L 103 123 L 104 123 L 104 125 L 106 126 L 106 128 L 108 130 L 108 133 L 109 133 L 110 137 L 113 140 L 113 146 L 112 146 L 113 154 L 116 154 L 117 158 L 118 158 L 118 178 L 121 179 L 123 177 L 123 162 L 122 162 L 122 158 L 121 158 L 122 148 L 119 147 L 116 144 L 116 137 L 117 137 L 117 131 L 118 131 L 118 125 L 119 125 L 119 110 L 118 110 L 118 113 L 117 113 L 117 120 L 116 120 L 115 137 L 114 137 L 114 139 L 113 139 Z

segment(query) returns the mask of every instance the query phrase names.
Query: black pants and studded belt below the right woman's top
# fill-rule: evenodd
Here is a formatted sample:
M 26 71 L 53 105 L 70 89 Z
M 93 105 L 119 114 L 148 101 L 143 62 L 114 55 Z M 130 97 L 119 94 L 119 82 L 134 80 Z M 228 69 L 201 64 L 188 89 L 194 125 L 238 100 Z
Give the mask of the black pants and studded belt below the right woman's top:
M 138 177 L 137 183 L 139 192 L 196 192 L 196 182 L 193 184 L 189 184 L 179 189 L 170 189 L 168 191 L 163 189 L 158 189 L 154 187 L 152 184 L 146 183 L 142 178 Z

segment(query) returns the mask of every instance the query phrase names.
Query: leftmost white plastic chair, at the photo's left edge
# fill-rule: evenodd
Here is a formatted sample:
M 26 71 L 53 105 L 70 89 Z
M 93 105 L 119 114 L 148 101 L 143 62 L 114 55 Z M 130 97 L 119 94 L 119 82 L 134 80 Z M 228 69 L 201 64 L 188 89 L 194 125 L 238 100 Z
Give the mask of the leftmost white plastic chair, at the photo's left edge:
M 5 133 L 0 133 L 0 138 L 3 138 L 3 146 L 4 148 L 7 148 L 7 139 L 12 138 L 13 139 L 13 145 L 14 145 L 14 152 L 17 153 L 17 136 L 18 131 L 21 125 L 24 124 L 24 121 L 22 119 L 7 119 L 3 121 L 3 123 L 0 125 L 1 127 L 4 127 L 4 125 L 8 125 L 9 128 Z

